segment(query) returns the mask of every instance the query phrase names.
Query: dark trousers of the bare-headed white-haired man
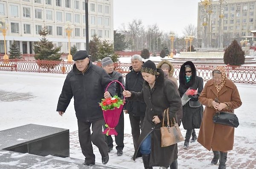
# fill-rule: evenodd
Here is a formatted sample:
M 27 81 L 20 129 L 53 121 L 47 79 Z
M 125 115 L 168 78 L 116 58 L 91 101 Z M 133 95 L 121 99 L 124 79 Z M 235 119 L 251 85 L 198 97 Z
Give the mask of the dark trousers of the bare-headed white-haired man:
M 140 130 L 143 126 L 143 117 L 137 117 L 134 115 L 129 114 L 130 123 L 131 123 L 131 134 L 134 142 L 134 149 L 136 149 L 138 139 L 140 137 Z

